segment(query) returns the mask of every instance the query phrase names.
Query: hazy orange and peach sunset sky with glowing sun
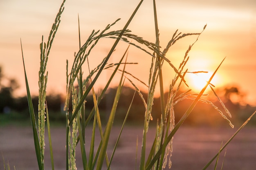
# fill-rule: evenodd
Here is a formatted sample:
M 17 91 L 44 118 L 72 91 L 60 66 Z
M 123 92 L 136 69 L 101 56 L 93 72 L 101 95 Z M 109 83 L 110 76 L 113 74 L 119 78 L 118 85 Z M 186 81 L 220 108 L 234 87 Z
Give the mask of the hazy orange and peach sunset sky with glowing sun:
M 25 80 L 22 65 L 20 38 L 29 86 L 32 94 L 38 93 L 38 71 L 40 62 L 39 44 L 45 41 L 54 22 L 62 0 L 1 0 L 0 1 L 0 65 L 4 75 L 18 80 L 20 88 L 16 95 L 25 95 Z M 79 49 L 78 14 L 81 24 L 81 41 L 95 30 L 103 30 L 121 18 L 110 30 L 124 27 L 139 0 L 67 0 L 56 34 L 49 62 L 47 64 L 47 91 L 65 92 L 66 60 L 73 62 L 74 52 Z M 247 102 L 256 105 L 256 1 L 255 0 L 157 0 L 160 45 L 164 48 L 176 29 L 182 33 L 200 33 L 206 29 L 189 53 L 189 71 L 209 71 L 220 67 L 213 84 L 238 86 L 247 94 Z M 145 0 L 134 20 L 128 26 L 132 33 L 155 42 L 153 2 Z M 190 36 L 177 42 L 167 54 L 167 58 L 178 67 L 189 44 L 197 36 Z M 89 57 L 90 69 L 108 54 L 113 40 L 102 40 Z M 116 62 L 123 55 L 128 44 L 121 42 L 110 62 Z M 151 57 L 131 47 L 127 71 L 147 83 Z M 88 68 L 84 68 L 86 73 Z M 164 65 L 166 88 L 171 82 L 173 70 Z M 103 72 L 100 84 L 106 82 L 111 71 Z M 187 79 L 191 79 L 188 75 Z M 136 81 L 135 81 L 136 82 Z M 139 82 L 136 82 L 141 86 Z M 193 81 L 189 82 L 195 88 Z

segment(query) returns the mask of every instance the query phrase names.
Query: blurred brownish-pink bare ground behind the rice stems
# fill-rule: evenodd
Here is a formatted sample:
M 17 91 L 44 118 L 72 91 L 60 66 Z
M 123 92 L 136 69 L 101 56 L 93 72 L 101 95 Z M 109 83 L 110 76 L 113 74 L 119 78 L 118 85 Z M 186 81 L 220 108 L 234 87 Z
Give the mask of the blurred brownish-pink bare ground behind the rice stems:
M 113 128 L 113 135 L 108 146 L 110 157 L 120 127 Z M 232 136 L 236 128 L 180 128 L 173 139 L 173 153 L 171 157 L 172 170 L 200 170 L 211 158 L 218 153 L 222 144 Z M 88 150 L 91 129 L 86 131 L 87 138 L 85 148 Z M 52 145 L 54 154 L 55 170 L 65 170 L 65 128 L 52 127 Z M 120 144 L 115 153 L 112 170 L 135 170 L 136 140 L 141 146 L 142 128 L 127 126 L 124 128 Z M 147 148 L 149 150 L 155 130 L 149 129 Z M 48 137 L 46 136 L 45 147 L 45 170 L 51 169 L 49 159 Z M 96 137 L 100 141 L 100 137 Z M 79 145 L 78 145 L 79 147 Z M 79 150 L 80 148 L 78 148 Z M 0 127 L 0 153 L 5 162 L 9 161 L 11 169 L 36 170 L 38 169 L 34 141 L 30 127 L 4 126 Z M 138 150 L 138 154 L 140 150 Z M 83 169 L 80 152 L 77 155 L 77 169 Z M 137 164 L 139 162 L 139 156 Z M 245 128 L 239 132 L 233 141 L 227 146 L 227 153 L 220 154 L 217 170 L 255 170 L 256 169 L 256 128 Z M 139 165 L 137 165 L 138 169 Z M 168 166 L 166 166 L 168 167 Z M 212 163 L 209 170 L 213 170 Z M 0 158 L 0 170 L 3 170 L 3 159 Z M 104 168 L 103 168 L 104 169 Z M 106 168 L 105 168 L 106 169 Z

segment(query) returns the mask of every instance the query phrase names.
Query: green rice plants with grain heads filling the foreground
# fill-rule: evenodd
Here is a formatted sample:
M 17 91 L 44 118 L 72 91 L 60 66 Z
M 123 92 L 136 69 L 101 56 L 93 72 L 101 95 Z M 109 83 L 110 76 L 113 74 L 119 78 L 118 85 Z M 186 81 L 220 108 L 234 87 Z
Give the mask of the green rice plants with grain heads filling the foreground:
M 144 118 L 144 127 L 143 127 L 143 138 L 142 138 L 142 146 L 141 148 L 137 145 L 137 150 L 141 150 L 140 154 L 140 160 L 139 160 L 139 169 L 140 170 L 162 170 L 163 168 L 168 165 L 169 168 L 171 168 L 171 156 L 172 156 L 172 141 L 175 133 L 180 128 L 180 126 L 183 124 L 185 119 L 189 116 L 193 108 L 198 102 L 205 102 L 207 104 L 211 104 L 216 110 L 220 113 L 220 115 L 226 119 L 229 123 L 229 125 L 233 128 L 234 126 L 231 124 L 231 121 L 225 116 L 226 114 L 231 117 L 231 114 L 229 113 L 228 109 L 225 107 L 225 105 L 221 102 L 220 98 L 214 91 L 214 86 L 211 84 L 211 80 L 213 79 L 214 75 L 216 75 L 216 72 L 218 71 L 219 67 L 221 66 L 222 60 L 220 62 L 220 65 L 216 68 L 213 75 L 210 77 L 210 79 L 207 81 L 206 85 L 200 93 L 198 94 L 191 94 L 189 89 L 189 85 L 186 83 L 185 75 L 189 73 L 188 69 L 186 69 L 186 63 L 189 60 L 189 51 L 192 49 L 195 42 L 197 42 L 199 36 L 202 34 L 204 29 L 206 28 L 206 25 L 203 27 L 203 30 L 200 33 L 179 33 L 178 30 L 175 31 L 173 36 L 171 37 L 171 40 L 166 44 L 165 48 L 162 48 L 160 46 L 160 40 L 159 40 L 159 29 L 157 24 L 157 7 L 155 0 L 153 0 L 153 12 L 154 12 L 154 21 L 155 21 L 155 42 L 148 42 L 147 40 L 133 34 L 130 30 L 128 30 L 128 25 L 134 18 L 134 16 L 137 13 L 137 10 L 140 8 L 141 3 L 143 0 L 139 2 L 136 9 L 130 16 L 129 20 L 125 24 L 124 28 L 117 31 L 108 31 L 111 26 L 116 24 L 118 20 L 113 22 L 112 24 L 108 24 L 103 31 L 92 31 L 88 39 L 81 45 L 80 40 L 80 26 L 79 28 L 79 51 L 74 56 L 74 61 L 72 63 L 71 70 L 68 70 L 69 61 L 67 61 L 66 66 L 66 75 L 67 75 L 67 86 L 66 86 L 66 102 L 65 102 L 65 111 L 66 111 L 66 169 L 67 170 L 76 170 L 76 150 L 81 150 L 81 157 L 83 160 L 83 169 L 84 170 L 101 170 L 103 166 L 106 166 L 107 169 L 111 168 L 111 163 L 113 160 L 113 156 L 115 154 L 115 151 L 117 149 L 117 145 L 119 143 L 119 139 L 122 135 L 122 130 L 125 126 L 127 116 L 130 112 L 130 107 L 132 106 L 132 101 L 130 101 L 130 107 L 127 108 L 126 117 L 124 118 L 124 122 L 121 126 L 121 130 L 119 133 L 119 136 L 116 140 L 115 147 L 112 151 L 111 155 L 108 155 L 107 148 L 108 148 L 108 142 L 110 139 L 110 134 L 113 126 L 113 122 L 115 121 L 115 115 L 117 110 L 117 105 L 120 99 L 122 87 L 124 85 L 124 82 L 128 80 L 132 86 L 135 88 L 135 93 L 138 93 L 141 96 L 141 99 L 143 100 L 144 106 L 145 106 L 145 118 Z M 48 133 L 49 133 L 49 141 L 50 141 L 50 150 L 51 150 L 51 160 L 52 160 L 52 169 L 54 170 L 54 161 L 53 161 L 53 154 L 52 154 L 52 145 L 51 145 L 51 133 L 50 133 L 50 124 L 49 124 L 49 113 L 47 110 L 47 102 L 46 102 L 46 86 L 47 86 L 47 75 L 48 73 L 46 71 L 47 66 L 47 60 L 48 55 L 52 46 L 52 42 L 54 40 L 54 36 L 56 34 L 56 31 L 58 29 L 58 26 L 61 22 L 61 14 L 64 10 L 64 3 L 61 4 L 61 7 L 59 9 L 59 12 L 56 16 L 55 22 L 52 26 L 52 29 L 49 33 L 49 38 L 47 42 L 43 42 L 40 44 L 40 70 L 39 70 L 39 104 L 38 104 L 38 126 L 36 125 L 33 105 L 31 101 L 31 96 L 29 92 L 29 84 L 27 82 L 27 75 L 25 71 L 25 63 L 24 63 L 24 56 L 22 52 L 22 58 L 23 58 L 23 64 L 24 64 L 24 71 L 25 71 L 25 80 L 26 80 L 26 86 L 27 86 L 27 97 L 28 97 L 28 103 L 29 103 L 29 111 L 30 111 L 30 117 L 31 117 L 31 124 L 34 134 L 34 143 L 35 143 L 35 149 L 36 149 L 36 156 L 38 161 L 38 168 L 40 170 L 44 170 L 44 148 L 45 148 L 45 118 L 47 120 L 47 127 L 48 127 Z M 178 67 L 174 66 L 168 58 L 166 58 L 166 53 L 170 49 L 171 46 L 173 46 L 178 40 L 185 38 L 187 36 L 197 36 L 195 39 L 195 42 L 193 42 L 192 45 L 189 46 L 187 51 L 184 53 L 184 57 L 182 62 Z M 94 47 L 97 45 L 99 40 L 101 38 L 112 38 L 115 39 L 115 43 L 112 45 L 112 48 L 110 49 L 108 55 L 103 59 L 102 62 L 99 63 L 99 65 L 90 70 L 90 62 L 88 60 L 88 56 L 90 55 L 90 52 Z M 109 58 L 112 55 L 113 51 L 117 47 L 117 44 L 121 41 L 128 43 L 128 48 L 124 52 L 124 55 L 120 57 L 120 60 L 118 63 L 111 63 L 108 64 Z M 132 82 L 132 79 L 137 79 L 136 75 L 131 75 L 126 71 L 127 63 L 125 58 L 128 57 L 128 49 L 129 46 L 135 46 L 138 49 L 141 49 L 146 54 L 148 54 L 151 57 L 151 65 L 148 66 L 149 69 L 149 79 L 148 79 L 148 96 L 146 97 L 146 101 L 144 100 L 144 96 L 139 91 L 139 88 Z M 87 62 L 86 62 L 87 61 Z M 169 64 L 169 66 L 173 69 L 175 76 L 173 77 L 171 84 L 169 84 L 168 88 L 168 97 L 167 100 L 164 98 L 164 79 L 162 75 L 162 66 L 164 63 Z M 82 66 L 87 65 L 87 68 L 89 70 L 89 75 L 83 76 L 83 70 Z M 123 66 L 123 68 L 121 68 Z M 95 93 L 94 90 L 94 84 L 95 82 L 99 81 L 98 78 L 101 75 L 102 71 L 104 69 L 112 68 L 113 72 L 110 78 L 108 79 L 108 82 L 106 83 L 105 87 L 99 94 Z M 200 71 L 199 71 L 200 72 Z M 103 128 L 102 122 L 101 122 L 101 110 L 99 110 L 98 105 L 101 102 L 101 99 L 104 95 L 106 95 L 106 91 L 109 88 L 110 82 L 112 81 L 114 75 L 117 73 L 121 73 L 121 78 L 119 80 L 119 84 L 117 87 L 117 92 L 115 94 L 114 102 L 112 103 L 112 109 L 110 111 L 109 117 L 107 118 L 107 123 L 104 125 L 105 128 Z M 194 72 L 198 73 L 198 72 Z M 84 78 L 85 77 L 85 78 Z M 161 114 L 161 119 L 157 121 L 156 126 L 156 135 L 154 142 L 151 146 L 151 150 L 148 154 L 146 154 L 146 145 L 147 142 L 147 132 L 148 127 L 153 119 L 151 112 L 153 108 L 153 99 L 155 96 L 155 90 L 157 88 L 157 83 L 159 83 L 159 91 L 160 91 L 160 99 L 161 99 L 161 110 L 159 110 L 159 113 Z M 78 87 L 76 87 L 76 84 L 78 84 Z M 188 90 L 180 95 L 178 92 L 180 91 L 180 87 L 182 85 L 185 85 L 188 87 Z M 218 109 L 216 106 L 213 105 L 208 100 L 202 99 L 202 95 L 204 95 L 204 92 L 207 88 L 207 86 L 211 87 L 211 90 L 216 95 L 217 99 L 222 104 L 225 113 L 222 113 L 220 109 Z M 92 93 L 93 95 L 93 102 L 94 102 L 94 108 L 88 113 L 88 117 L 85 118 L 85 102 L 86 97 L 89 93 Z M 72 108 L 69 108 L 69 103 L 72 103 Z M 187 106 L 187 111 L 184 113 L 183 117 L 178 121 L 177 124 L 175 124 L 175 113 L 174 113 L 174 107 L 177 102 L 180 102 L 184 99 L 193 99 L 193 102 L 190 106 Z M 92 126 L 92 135 L 86 136 L 85 134 L 85 128 L 88 127 L 88 124 L 90 121 L 93 121 Z M 248 119 L 249 121 L 249 119 Z M 245 122 L 246 124 L 247 122 Z M 245 126 L 245 124 L 243 126 Z M 241 126 L 241 128 L 243 128 Z M 38 129 L 37 129 L 38 128 Z M 101 136 L 101 141 L 99 146 L 95 145 L 95 134 L 96 129 L 99 129 L 99 133 Z M 240 129 L 239 129 L 240 130 Z M 239 131 L 238 130 L 238 131 Z M 234 134 L 234 136 L 237 133 Z M 85 150 L 85 137 L 90 137 L 90 150 Z M 233 137 L 231 137 L 233 139 Z M 229 141 L 227 142 L 227 144 Z M 225 146 L 225 144 L 219 152 L 221 152 Z M 88 145 L 88 144 L 87 144 Z M 80 148 L 79 148 L 80 146 Z M 137 152 L 136 150 L 136 152 Z M 218 152 L 218 153 L 219 153 Z M 217 155 L 218 156 L 218 155 Z M 216 157 L 217 157 L 216 156 Z M 209 163 L 206 165 L 205 168 L 209 166 L 209 164 L 216 158 L 214 157 Z M 104 161 L 106 162 L 106 165 L 103 165 Z M 137 162 L 137 159 L 135 160 Z M 121 169 L 121 167 L 120 167 Z M 135 167 L 136 169 L 136 167 Z

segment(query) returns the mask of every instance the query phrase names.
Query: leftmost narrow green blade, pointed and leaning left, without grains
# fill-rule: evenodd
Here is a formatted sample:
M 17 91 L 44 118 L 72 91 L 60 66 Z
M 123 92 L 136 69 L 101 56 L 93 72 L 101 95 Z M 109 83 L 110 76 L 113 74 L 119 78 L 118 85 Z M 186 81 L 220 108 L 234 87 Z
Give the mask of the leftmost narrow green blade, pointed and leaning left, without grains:
M 25 69 L 25 62 L 24 62 L 21 40 L 20 40 L 20 46 L 21 46 L 22 61 L 23 61 L 23 67 L 24 67 L 24 73 L 25 73 L 25 82 L 26 82 L 26 89 L 27 89 L 27 102 L 29 105 L 29 114 L 30 114 L 30 120 L 31 120 L 31 124 L 32 124 L 34 144 L 35 144 L 35 150 L 36 150 L 36 158 L 37 158 L 39 170 L 43 170 L 43 166 L 41 163 L 40 145 L 39 145 L 37 129 L 36 129 L 36 118 L 35 118 L 33 103 L 32 103 L 32 99 L 31 99 L 31 95 L 30 95 L 30 91 L 29 91 L 29 84 L 27 81 L 27 74 L 26 74 L 26 69 Z

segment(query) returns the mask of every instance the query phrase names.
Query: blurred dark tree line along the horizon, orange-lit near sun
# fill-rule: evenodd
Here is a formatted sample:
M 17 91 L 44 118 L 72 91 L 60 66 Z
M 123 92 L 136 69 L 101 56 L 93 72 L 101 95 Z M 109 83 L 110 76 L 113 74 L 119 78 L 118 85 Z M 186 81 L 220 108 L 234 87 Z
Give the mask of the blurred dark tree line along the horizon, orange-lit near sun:
M 0 67 L 0 118 L 11 117 L 13 119 L 25 120 L 29 119 L 29 109 L 27 104 L 27 96 L 24 97 L 13 97 L 15 90 L 18 88 L 18 83 L 15 79 L 4 77 L 2 68 Z M 240 89 L 236 86 L 216 88 L 216 93 L 222 99 L 223 103 L 231 112 L 232 118 L 230 119 L 233 124 L 241 124 L 245 121 L 253 112 L 256 107 L 250 106 L 244 102 L 245 94 L 240 92 Z M 99 110 L 102 117 L 102 121 L 106 118 L 112 107 L 114 101 L 116 88 L 108 89 L 105 97 L 99 103 Z M 116 122 L 122 123 L 124 119 L 135 90 L 133 88 L 124 86 L 116 114 Z M 144 97 L 146 93 L 141 92 Z M 179 92 L 181 94 L 182 92 Z M 167 94 L 165 94 L 167 97 Z M 222 112 L 225 114 L 225 110 L 222 108 L 220 102 L 212 94 L 206 98 L 213 102 Z M 145 98 L 146 100 L 146 98 Z M 167 100 L 167 99 L 166 99 Z M 166 101 L 165 100 L 165 101 Z M 34 110 L 38 110 L 38 96 L 32 97 Z M 49 110 L 50 121 L 63 122 L 65 124 L 65 111 L 63 106 L 65 102 L 65 96 L 61 94 L 49 94 L 47 95 L 47 106 Z M 177 103 L 174 107 L 175 121 L 179 121 L 182 115 L 186 112 L 186 109 L 190 106 L 193 101 L 191 99 L 184 99 Z M 85 114 L 86 117 L 90 114 L 90 111 L 94 107 L 92 95 L 89 95 L 85 103 Z M 72 106 L 70 106 L 72 108 Z M 154 99 L 154 105 L 152 110 L 153 121 L 160 119 L 160 99 Z M 70 109 L 70 112 L 72 110 Z M 128 115 L 127 122 L 132 124 L 143 124 L 145 108 L 144 104 L 138 93 L 135 94 L 135 98 L 132 103 L 130 113 Z M 37 115 L 37 114 L 36 114 Z M 70 114 L 71 115 L 71 114 Z M 227 114 L 226 114 L 227 116 Z M 6 120 L 6 119 L 2 119 Z M 105 119 L 106 120 L 106 119 Z M 1 121 L 0 121 L 1 124 Z M 192 126 L 222 126 L 228 123 L 221 117 L 221 115 L 210 105 L 199 102 L 191 115 L 185 121 L 185 124 Z M 254 117 L 249 124 L 256 124 L 256 117 Z

